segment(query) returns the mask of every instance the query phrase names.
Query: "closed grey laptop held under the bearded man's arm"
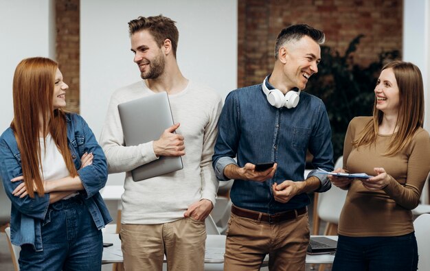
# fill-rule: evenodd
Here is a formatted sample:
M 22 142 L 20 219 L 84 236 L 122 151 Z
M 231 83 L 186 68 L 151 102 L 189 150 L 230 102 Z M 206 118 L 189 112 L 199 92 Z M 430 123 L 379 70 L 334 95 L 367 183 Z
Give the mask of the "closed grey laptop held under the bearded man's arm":
M 126 146 L 157 140 L 174 124 L 166 92 L 156 93 L 118 104 Z M 181 156 L 160 156 L 157 160 L 131 171 L 133 180 L 145 180 L 182 169 Z

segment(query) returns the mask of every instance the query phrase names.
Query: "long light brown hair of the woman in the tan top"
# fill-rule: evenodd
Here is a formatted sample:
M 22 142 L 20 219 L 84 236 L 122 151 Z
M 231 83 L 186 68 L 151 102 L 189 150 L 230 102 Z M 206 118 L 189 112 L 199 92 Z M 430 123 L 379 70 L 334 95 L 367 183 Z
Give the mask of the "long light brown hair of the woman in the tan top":
M 393 134 L 392 141 L 385 155 L 397 154 L 414 137 L 418 128 L 424 123 L 424 85 L 421 71 L 410 62 L 394 61 L 385 64 L 382 70 L 392 69 L 399 91 L 399 105 L 396 126 L 398 132 Z M 373 105 L 373 121 L 366 124 L 359 139 L 353 141 L 355 147 L 370 145 L 376 142 L 378 127 L 383 121 L 384 113 Z

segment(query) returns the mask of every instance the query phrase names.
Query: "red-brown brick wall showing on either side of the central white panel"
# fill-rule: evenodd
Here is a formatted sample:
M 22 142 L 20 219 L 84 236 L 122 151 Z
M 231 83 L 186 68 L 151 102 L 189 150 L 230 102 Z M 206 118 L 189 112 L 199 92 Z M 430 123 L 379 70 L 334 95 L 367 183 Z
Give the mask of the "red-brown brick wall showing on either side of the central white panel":
M 79 112 L 79 0 L 56 0 L 56 52 L 69 84 L 67 110 Z M 363 66 L 381 51 L 402 49 L 403 0 L 238 0 L 238 86 L 260 84 L 273 68 L 282 28 L 307 23 L 340 54 L 364 34 L 354 55 Z

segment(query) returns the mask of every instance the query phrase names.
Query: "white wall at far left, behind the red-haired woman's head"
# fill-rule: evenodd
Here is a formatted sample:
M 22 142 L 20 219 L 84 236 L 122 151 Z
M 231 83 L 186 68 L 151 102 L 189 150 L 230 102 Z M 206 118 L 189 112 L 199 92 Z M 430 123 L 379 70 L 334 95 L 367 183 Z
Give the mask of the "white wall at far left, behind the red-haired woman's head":
M 12 80 L 16 65 L 32 56 L 55 57 L 52 0 L 0 0 L 0 133 L 13 117 Z

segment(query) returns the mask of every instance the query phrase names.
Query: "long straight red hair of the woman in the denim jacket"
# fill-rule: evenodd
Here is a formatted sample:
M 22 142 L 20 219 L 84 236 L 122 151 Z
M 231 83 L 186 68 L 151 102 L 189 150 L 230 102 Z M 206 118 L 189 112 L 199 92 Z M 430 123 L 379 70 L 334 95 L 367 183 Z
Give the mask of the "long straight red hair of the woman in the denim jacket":
M 38 196 L 45 193 L 43 176 L 39 172 L 39 165 L 42 166 L 39 130 L 43 134 L 51 133 L 69 173 L 73 177 L 78 174 L 67 145 L 65 113 L 53 107 L 57 69 L 57 62 L 49 58 L 26 58 L 19 62 L 14 73 L 14 119 L 11 127 L 21 152 L 25 187 L 31 198 L 34 198 L 35 189 Z M 42 115 L 42 123 L 39 114 Z M 45 139 L 43 143 L 46 145 Z

